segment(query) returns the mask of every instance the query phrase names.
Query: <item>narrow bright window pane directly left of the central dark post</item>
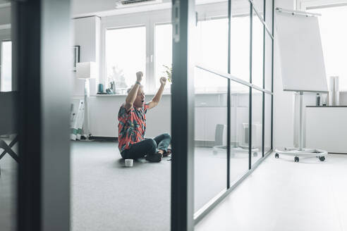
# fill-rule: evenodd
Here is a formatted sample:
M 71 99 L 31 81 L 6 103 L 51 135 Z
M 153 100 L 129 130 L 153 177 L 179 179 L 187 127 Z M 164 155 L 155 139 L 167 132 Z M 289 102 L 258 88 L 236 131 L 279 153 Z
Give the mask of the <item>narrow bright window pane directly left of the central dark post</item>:
M 156 25 L 154 35 L 155 87 L 160 87 L 160 77 L 167 77 L 166 70 L 172 67 L 172 25 Z M 166 68 L 166 67 L 168 68 Z M 169 70 L 170 71 L 170 70 Z M 165 85 L 171 87 L 170 82 Z

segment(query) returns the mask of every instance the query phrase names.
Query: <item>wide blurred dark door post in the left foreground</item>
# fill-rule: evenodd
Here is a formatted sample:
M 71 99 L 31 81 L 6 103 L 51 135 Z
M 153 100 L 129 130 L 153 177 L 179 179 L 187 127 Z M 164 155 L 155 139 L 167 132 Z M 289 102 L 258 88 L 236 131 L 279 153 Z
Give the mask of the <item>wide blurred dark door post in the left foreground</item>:
M 70 230 L 70 0 L 13 1 L 18 230 Z

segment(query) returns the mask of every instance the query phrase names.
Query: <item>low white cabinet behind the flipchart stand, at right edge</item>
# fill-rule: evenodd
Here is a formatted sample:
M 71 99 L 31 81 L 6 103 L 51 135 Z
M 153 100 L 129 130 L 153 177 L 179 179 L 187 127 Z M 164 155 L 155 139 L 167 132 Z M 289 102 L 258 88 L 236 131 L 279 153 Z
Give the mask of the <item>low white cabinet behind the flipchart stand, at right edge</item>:
M 306 106 L 306 147 L 347 154 L 347 106 Z

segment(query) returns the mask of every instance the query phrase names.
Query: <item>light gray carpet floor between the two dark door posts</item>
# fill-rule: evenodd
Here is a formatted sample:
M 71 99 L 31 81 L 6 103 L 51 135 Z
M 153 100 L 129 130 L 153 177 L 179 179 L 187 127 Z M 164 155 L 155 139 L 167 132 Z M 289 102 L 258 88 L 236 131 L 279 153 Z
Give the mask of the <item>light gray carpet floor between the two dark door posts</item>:
M 125 168 L 116 143 L 73 142 L 72 230 L 170 230 L 170 168 Z

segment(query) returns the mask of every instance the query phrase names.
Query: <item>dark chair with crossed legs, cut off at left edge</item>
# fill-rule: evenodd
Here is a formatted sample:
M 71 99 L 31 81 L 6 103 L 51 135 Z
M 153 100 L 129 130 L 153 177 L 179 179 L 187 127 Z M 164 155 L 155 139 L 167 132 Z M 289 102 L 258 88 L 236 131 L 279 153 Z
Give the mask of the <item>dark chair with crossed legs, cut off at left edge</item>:
M 0 92 L 0 135 L 16 134 L 16 101 L 18 92 Z M 7 144 L 4 139 L 0 138 L 0 161 L 6 154 L 9 154 L 15 161 L 19 161 L 18 155 L 12 150 L 12 147 L 18 142 L 16 135 L 10 144 Z M 0 168 L 1 175 L 1 168 Z

